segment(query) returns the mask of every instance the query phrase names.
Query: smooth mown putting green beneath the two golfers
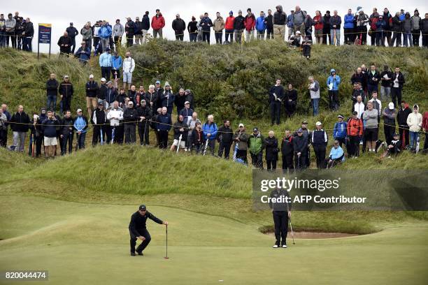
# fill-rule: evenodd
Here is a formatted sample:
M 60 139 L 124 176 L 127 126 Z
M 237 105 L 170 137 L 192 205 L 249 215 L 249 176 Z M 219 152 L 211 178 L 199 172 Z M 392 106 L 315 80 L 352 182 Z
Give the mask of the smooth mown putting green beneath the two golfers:
M 0 207 L 0 270 L 49 270 L 49 282 L 41 284 L 424 284 L 428 278 L 427 224 L 272 249 L 272 238 L 255 226 L 148 205 L 170 223 L 166 260 L 165 228 L 152 221 L 145 256 L 129 256 L 135 206 L 11 195 L 1 196 Z

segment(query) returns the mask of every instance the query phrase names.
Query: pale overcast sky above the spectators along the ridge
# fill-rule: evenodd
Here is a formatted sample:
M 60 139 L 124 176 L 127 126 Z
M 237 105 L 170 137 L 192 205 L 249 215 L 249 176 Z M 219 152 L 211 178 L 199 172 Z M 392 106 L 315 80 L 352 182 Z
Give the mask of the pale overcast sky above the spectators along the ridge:
M 149 3 L 147 3 L 149 2 Z M 33 40 L 33 50 L 37 51 L 37 33 L 38 23 L 50 23 L 52 24 L 52 52 L 58 52 L 59 47 L 57 41 L 59 36 L 65 31 L 66 27 L 69 27 L 69 22 L 73 22 L 74 26 L 78 31 L 83 27 L 85 22 L 90 21 L 92 24 L 96 20 L 108 20 L 110 24 L 114 24 L 116 19 L 120 19 L 120 22 L 124 24 L 126 17 L 131 17 L 135 20 L 135 17 L 143 17 L 146 10 L 150 12 L 150 19 L 155 15 L 156 8 L 159 8 L 166 20 L 166 26 L 164 28 L 164 37 L 169 39 L 175 39 L 174 32 L 171 28 L 171 23 L 176 17 L 176 13 L 180 13 L 181 17 L 185 22 L 190 22 L 192 15 L 198 18 L 198 15 L 208 12 L 210 17 L 214 20 L 215 13 L 218 11 L 223 17 L 227 17 L 230 10 L 234 11 L 234 15 L 238 14 L 238 10 L 245 10 L 252 8 L 252 13 L 255 13 L 258 17 L 259 12 L 263 10 L 266 12 L 268 9 L 275 10 L 275 7 L 280 1 L 260 1 L 260 0 L 215 0 L 215 1 L 137 1 L 137 0 L 125 0 L 125 1 L 87 1 L 87 0 L 73 0 L 73 1 L 48 1 L 48 0 L 36 0 L 36 1 L 2 1 L 1 13 L 7 17 L 8 13 L 15 13 L 19 11 L 22 17 L 30 17 L 31 22 L 34 23 L 35 38 Z M 231 4 L 233 2 L 233 4 Z M 350 4 L 352 3 L 352 4 Z M 413 1 L 380 1 L 382 5 L 386 5 L 389 8 L 390 13 L 394 15 L 395 12 L 404 8 L 406 11 L 410 11 L 413 15 L 415 8 L 418 8 L 421 17 L 424 17 L 427 10 L 427 1 L 413 0 Z M 385 4 L 387 3 L 387 4 Z M 110 6 L 109 6 L 110 4 Z M 312 17 L 315 15 L 315 10 L 321 10 L 324 15 L 325 10 L 330 10 L 331 14 L 333 10 L 338 10 L 338 14 L 343 17 L 348 12 L 348 8 L 355 12 L 357 6 L 362 6 L 364 12 L 367 15 L 371 14 L 373 9 L 373 1 L 359 0 L 359 1 L 297 1 L 295 3 L 283 4 L 283 8 L 287 15 L 290 10 L 294 10 L 296 5 L 301 6 L 302 10 L 306 10 Z M 378 10 L 383 10 L 385 6 L 376 6 Z M 150 29 L 152 33 L 152 29 Z M 185 33 L 185 41 L 188 41 L 189 35 Z M 81 41 L 81 36 L 77 36 L 77 41 Z M 215 42 L 214 35 L 211 33 L 211 42 Z M 48 45 L 41 45 L 41 51 L 48 52 Z

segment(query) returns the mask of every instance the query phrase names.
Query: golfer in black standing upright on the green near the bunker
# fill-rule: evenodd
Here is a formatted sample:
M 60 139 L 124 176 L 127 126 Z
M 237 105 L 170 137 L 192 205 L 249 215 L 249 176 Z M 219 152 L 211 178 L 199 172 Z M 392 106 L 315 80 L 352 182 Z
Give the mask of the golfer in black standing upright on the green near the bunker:
M 285 199 L 285 197 L 290 197 L 290 195 L 284 189 L 274 189 L 271 192 L 271 198 Z M 273 223 L 275 224 L 276 242 L 273 248 L 287 248 L 288 218 L 291 216 L 291 201 L 288 204 L 285 203 L 285 200 L 277 203 L 270 201 L 269 207 L 271 207 Z

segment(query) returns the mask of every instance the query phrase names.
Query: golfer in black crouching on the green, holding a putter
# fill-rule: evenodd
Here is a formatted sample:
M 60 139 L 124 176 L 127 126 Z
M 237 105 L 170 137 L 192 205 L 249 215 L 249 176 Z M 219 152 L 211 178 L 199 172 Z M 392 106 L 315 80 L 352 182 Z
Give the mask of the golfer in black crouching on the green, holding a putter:
M 152 219 L 157 224 L 167 225 L 167 221 L 162 221 L 153 216 L 152 213 L 145 209 L 145 205 L 138 207 L 138 211 L 132 214 L 131 221 L 129 222 L 129 235 L 131 235 L 131 256 L 135 256 L 135 251 L 138 255 L 143 255 L 143 250 L 148 246 L 150 240 L 150 233 L 145 228 L 145 221 Z M 135 249 L 136 240 L 141 240 L 141 244 Z

